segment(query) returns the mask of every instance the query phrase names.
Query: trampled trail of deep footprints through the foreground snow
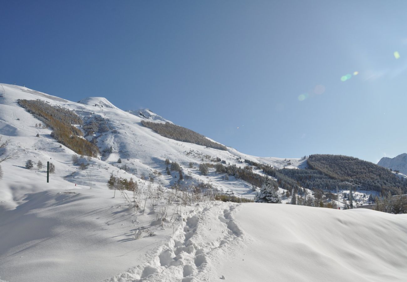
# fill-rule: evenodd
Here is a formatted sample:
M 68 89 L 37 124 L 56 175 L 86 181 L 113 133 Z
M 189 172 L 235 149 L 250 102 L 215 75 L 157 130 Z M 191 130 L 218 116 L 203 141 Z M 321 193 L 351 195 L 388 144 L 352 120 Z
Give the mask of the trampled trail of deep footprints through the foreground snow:
M 211 275 L 213 254 L 223 253 L 220 248 L 243 235 L 231 214 L 234 208 L 234 204 L 222 203 L 190 212 L 186 220 L 181 221 L 182 226 L 173 238 L 160 247 L 155 257 L 110 281 L 192 282 L 197 277 L 201 279 Z

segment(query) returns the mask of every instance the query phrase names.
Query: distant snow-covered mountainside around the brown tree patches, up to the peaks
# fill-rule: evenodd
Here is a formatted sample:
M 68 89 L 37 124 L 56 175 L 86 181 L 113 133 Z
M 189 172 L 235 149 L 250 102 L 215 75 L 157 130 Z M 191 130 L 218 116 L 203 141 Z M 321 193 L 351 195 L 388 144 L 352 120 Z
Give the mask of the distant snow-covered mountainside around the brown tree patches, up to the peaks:
M 97 163 L 97 165 L 101 164 L 104 167 L 107 164 L 120 167 L 117 160 L 121 158 L 123 161 L 121 165 L 127 165 L 129 172 L 138 178 L 153 175 L 155 170 L 160 172 L 162 174 L 161 176 L 153 175 L 153 177 L 155 177 L 155 181 L 166 187 L 173 185 L 177 181 L 177 178 L 175 178 L 175 176 L 177 176 L 176 172 L 171 176 L 167 176 L 165 173 L 166 165 L 164 164 L 164 160 L 166 158 L 179 163 L 184 170 L 184 174 L 189 174 L 191 182 L 209 181 L 219 190 L 232 190 L 235 194 L 247 198 L 253 198 L 255 194 L 255 192 L 250 189 L 251 185 L 248 185 L 248 183 L 245 183 L 245 181 L 241 179 L 223 181 L 221 179 L 222 175 L 219 174 L 212 174 L 216 177 L 202 176 L 198 171 L 199 163 L 208 162 L 208 158 L 216 157 L 225 160 L 227 163 L 236 164 L 239 167 L 245 165 L 245 163 L 241 163 L 241 161 L 238 160 L 239 158 L 241 160 L 249 159 L 251 161 L 267 163 L 276 168 L 284 166 L 296 168 L 301 167 L 304 162 L 306 163 L 303 159 L 261 158 L 243 154 L 230 147 L 228 147 L 227 151 L 223 151 L 168 139 L 153 132 L 149 128 L 145 128 L 140 123 L 142 119 L 151 119 L 156 122 L 167 122 L 168 120 L 155 115 L 148 109 L 138 111 L 142 113 L 142 116 L 134 115 L 135 112 L 132 112 L 132 114 L 125 112 L 102 97 L 88 97 L 75 103 L 21 86 L 3 84 L 2 87 L 5 90 L 5 94 L 4 97 L 1 98 L 2 102 L 0 104 L 2 107 L 0 113 L 0 122 L 2 121 L 2 123 L 0 123 L 0 133 L 7 136 L 15 136 L 13 141 L 18 142 L 20 134 L 25 135 L 28 132 L 32 132 L 34 135 L 28 134 L 31 136 L 31 139 L 22 142 L 31 144 L 25 146 L 25 149 L 31 148 L 33 144 L 36 144 L 35 146 L 40 150 L 46 149 L 45 147 L 41 147 L 43 143 L 55 143 L 55 145 L 57 145 L 55 140 L 49 138 L 48 134 L 50 134 L 50 131 L 35 128 L 35 123 L 39 123 L 39 121 L 16 104 L 17 99 L 42 99 L 50 102 L 50 104 L 60 105 L 74 110 L 85 120 L 92 119 L 94 116 L 100 116 L 107 120 L 111 129 L 109 132 L 96 133 L 94 136 L 87 137 L 89 140 L 92 139 L 92 137 L 97 137 L 97 144 L 101 151 L 105 148 L 110 148 L 110 146 L 113 148 L 112 154 L 101 157 L 101 161 L 103 162 L 95 161 L 95 165 Z M 7 111 L 9 111 L 10 114 L 12 113 L 13 116 L 8 115 Z M 21 113 L 21 115 L 17 113 Z M 18 117 L 20 117 L 20 121 L 17 120 Z M 27 130 L 27 132 L 16 133 L 15 131 L 18 130 L 23 123 L 31 126 L 24 127 L 24 130 Z M 40 139 L 32 138 L 37 132 L 41 135 Z M 49 149 L 46 149 L 46 151 L 48 152 Z M 67 148 L 64 148 L 64 152 L 73 154 L 73 152 Z M 64 165 L 67 165 L 68 160 L 69 156 L 66 156 Z M 193 168 L 189 168 L 190 162 L 194 163 Z M 291 165 L 287 165 L 289 162 L 291 162 Z M 120 173 L 122 172 L 123 171 L 120 171 Z M 97 173 L 97 171 L 95 171 L 95 173 Z M 71 182 L 85 181 L 85 174 L 83 173 L 76 173 L 74 176 L 75 179 L 70 176 L 66 176 L 65 179 Z M 101 177 L 99 180 L 100 182 L 104 182 L 107 179 Z M 185 184 L 188 184 L 187 180 Z

